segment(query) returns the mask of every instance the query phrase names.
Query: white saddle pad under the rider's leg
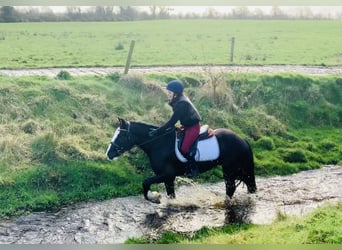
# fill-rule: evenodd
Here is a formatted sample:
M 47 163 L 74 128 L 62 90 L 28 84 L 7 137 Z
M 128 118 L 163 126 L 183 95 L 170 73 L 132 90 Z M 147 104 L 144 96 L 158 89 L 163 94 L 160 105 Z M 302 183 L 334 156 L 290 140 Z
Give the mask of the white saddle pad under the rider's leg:
M 181 162 L 187 162 L 181 152 L 178 150 L 178 139 L 176 138 L 175 151 L 178 160 Z M 197 150 L 195 155 L 196 161 L 213 161 L 220 156 L 219 145 L 216 136 L 212 136 L 208 139 L 201 140 L 197 143 Z

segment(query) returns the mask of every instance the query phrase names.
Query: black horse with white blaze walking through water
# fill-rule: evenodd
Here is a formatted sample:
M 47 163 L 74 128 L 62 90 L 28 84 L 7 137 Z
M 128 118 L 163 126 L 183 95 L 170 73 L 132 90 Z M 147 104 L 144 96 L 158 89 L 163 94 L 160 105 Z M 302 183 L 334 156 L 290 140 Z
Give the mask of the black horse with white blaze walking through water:
M 143 182 L 144 197 L 152 201 L 149 190 L 152 184 L 164 183 L 167 195 L 175 198 L 176 176 L 185 174 L 186 164 L 178 160 L 175 153 L 175 131 L 151 138 L 148 132 L 157 128 L 142 122 L 125 121 L 119 118 L 116 130 L 107 149 L 110 160 L 120 156 L 134 146 L 141 148 L 149 157 L 155 176 Z M 200 172 L 221 165 L 226 186 L 226 194 L 231 198 L 236 189 L 236 181 L 247 185 L 249 193 L 256 192 L 253 152 L 249 143 L 228 129 L 214 130 L 219 145 L 219 156 L 215 160 L 198 162 Z

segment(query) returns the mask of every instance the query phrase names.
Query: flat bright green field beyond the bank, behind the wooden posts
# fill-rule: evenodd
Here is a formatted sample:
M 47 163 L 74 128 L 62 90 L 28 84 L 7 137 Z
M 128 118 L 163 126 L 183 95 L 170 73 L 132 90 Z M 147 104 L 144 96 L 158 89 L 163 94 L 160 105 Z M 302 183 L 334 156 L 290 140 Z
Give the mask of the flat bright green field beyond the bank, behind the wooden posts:
M 340 21 L 163 20 L 1 23 L 0 68 L 342 64 Z

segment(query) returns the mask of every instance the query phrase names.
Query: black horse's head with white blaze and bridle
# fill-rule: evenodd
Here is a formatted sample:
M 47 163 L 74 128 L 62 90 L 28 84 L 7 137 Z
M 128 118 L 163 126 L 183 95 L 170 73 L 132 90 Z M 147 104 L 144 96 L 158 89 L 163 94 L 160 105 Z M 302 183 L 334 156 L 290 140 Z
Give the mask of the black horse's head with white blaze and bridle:
M 119 157 L 130 150 L 136 143 L 134 136 L 130 133 L 130 123 L 124 119 L 118 119 L 120 126 L 116 129 L 106 152 L 109 160 Z

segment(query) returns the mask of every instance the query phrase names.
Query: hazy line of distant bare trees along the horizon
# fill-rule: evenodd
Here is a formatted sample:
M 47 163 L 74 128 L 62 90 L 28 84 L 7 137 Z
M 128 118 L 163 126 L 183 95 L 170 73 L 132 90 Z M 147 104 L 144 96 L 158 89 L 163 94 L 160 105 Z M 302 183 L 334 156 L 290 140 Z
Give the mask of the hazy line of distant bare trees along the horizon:
M 84 10 L 81 6 L 69 6 L 63 13 L 54 13 L 50 7 L 19 8 L 0 6 L 0 22 L 56 22 L 56 21 L 136 21 L 149 19 L 342 19 L 342 12 L 314 13 L 309 7 L 284 10 L 273 6 L 270 14 L 262 9 L 250 10 L 246 6 L 235 7 L 225 13 L 208 7 L 203 13 L 172 13 L 166 6 L 150 6 L 148 10 L 134 6 L 93 6 Z

